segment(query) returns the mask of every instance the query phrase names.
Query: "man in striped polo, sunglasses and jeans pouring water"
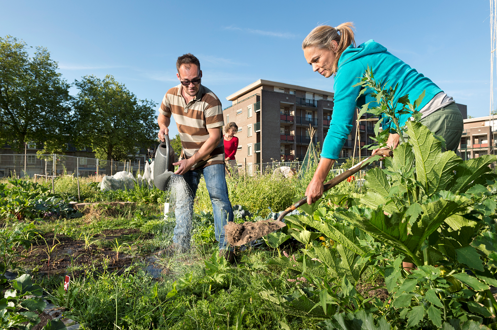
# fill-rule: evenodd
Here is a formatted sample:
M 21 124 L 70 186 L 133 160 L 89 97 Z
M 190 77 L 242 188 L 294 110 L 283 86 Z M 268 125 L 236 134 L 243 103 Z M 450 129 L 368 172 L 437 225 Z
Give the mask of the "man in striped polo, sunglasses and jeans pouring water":
M 225 179 L 224 144 L 221 130 L 224 126 L 221 101 L 207 87 L 200 84 L 202 71 L 200 62 L 191 55 L 178 57 L 176 73 L 180 84 L 169 89 L 161 104 L 159 139 L 169 133 L 171 115 L 178 127 L 183 151 L 175 174 L 184 177 L 191 190 L 189 198 L 176 200 L 176 227 L 174 248 L 180 252 L 190 249 L 191 218 L 200 176 L 203 175 L 214 213 L 214 228 L 219 250 L 230 263 L 234 263 L 233 249 L 228 249 L 224 226 L 233 221 L 233 209 L 228 198 Z

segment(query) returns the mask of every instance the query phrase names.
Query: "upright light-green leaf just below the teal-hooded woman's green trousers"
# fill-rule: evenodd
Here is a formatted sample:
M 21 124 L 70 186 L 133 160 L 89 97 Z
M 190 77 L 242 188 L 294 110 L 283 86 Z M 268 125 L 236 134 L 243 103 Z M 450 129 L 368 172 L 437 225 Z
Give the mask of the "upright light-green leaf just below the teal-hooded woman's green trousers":
M 422 124 L 408 121 L 406 126 L 416 158 L 416 178 L 425 193 L 431 196 L 450 187 L 462 159 L 453 151 L 442 152 L 440 140 Z

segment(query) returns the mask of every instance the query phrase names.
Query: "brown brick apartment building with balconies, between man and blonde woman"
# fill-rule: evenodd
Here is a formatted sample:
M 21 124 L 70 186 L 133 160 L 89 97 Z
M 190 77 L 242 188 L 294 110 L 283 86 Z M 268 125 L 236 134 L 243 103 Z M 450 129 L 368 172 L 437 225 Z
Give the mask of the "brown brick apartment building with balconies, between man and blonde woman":
M 259 79 L 226 99 L 233 104 L 223 111 L 225 123 L 239 127 L 236 159 L 239 164 L 247 161 L 248 171 L 272 160 L 302 160 L 311 141 L 309 126 L 316 130 L 314 143 L 321 146 L 330 128 L 332 92 Z M 355 123 L 356 118 L 340 157 L 352 156 L 354 147 L 358 156 L 360 146 L 372 143 L 375 121 L 361 122 L 358 131 Z

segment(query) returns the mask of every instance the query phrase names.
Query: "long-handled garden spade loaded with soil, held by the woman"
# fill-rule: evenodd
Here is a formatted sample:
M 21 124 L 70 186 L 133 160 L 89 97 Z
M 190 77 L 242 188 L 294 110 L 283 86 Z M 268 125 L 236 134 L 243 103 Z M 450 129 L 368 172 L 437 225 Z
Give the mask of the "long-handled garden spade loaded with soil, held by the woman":
M 338 174 L 333 179 L 325 183 L 324 191 L 330 190 L 332 187 L 336 186 L 343 180 L 347 179 L 351 175 L 359 172 L 369 165 L 369 160 L 372 157 L 381 156 L 381 157 L 392 157 L 393 152 L 391 150 L 380 149 L 374 156 L 369 156 L 363 161 L 357 163 L 355 166 L 352 166 L 345 172 Z M 266 236 L 269 233 L 272 233 L 278 229 L 285 227 L 285 223 L 281 221 L 288 213 L 299 208 L 307 202 L 307 196 L 288 207 L 286 210 L 281 212 L 276 220 L 266 219 L 257 222 L 244 222 L 244 223 L 235 223 L 228 222 L 225 228 L 225 237 L 228 240 L 228 243 L 232 246 L 239 246 L 247 244 L 250 241 L 261 238 L 262 236 Z

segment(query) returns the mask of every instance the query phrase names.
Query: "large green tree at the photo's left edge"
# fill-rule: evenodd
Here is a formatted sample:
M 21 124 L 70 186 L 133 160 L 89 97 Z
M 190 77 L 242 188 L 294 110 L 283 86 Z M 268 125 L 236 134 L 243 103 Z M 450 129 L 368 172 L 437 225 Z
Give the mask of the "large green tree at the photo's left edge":
M 66 142 L 71 125 L 70 85 L 46 48 L 0 38 L 0 144 L 24 150 L 24 142 Z

